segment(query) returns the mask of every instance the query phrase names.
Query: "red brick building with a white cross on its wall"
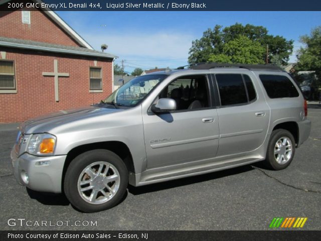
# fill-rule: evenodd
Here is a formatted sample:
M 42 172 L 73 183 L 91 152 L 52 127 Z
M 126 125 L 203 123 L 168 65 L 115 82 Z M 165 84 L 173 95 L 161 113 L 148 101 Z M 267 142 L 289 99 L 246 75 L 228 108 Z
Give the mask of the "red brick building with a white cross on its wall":
M 116 56 L 93 50 L 53 11 L 0 12 L 0 26 L 0 123 L 89 105 L 112 92 Z

